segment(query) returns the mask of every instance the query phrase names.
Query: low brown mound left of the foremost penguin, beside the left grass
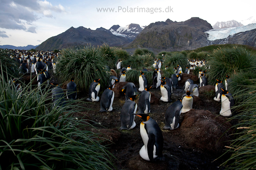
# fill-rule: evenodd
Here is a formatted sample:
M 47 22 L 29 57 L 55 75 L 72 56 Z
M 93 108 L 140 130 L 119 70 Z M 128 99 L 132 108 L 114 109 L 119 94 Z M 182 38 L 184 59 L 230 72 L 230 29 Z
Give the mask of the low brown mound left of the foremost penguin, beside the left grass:
M 118 129 L 95 129 L 92 128 L 92 132 L 96 133 L 99 138 L 96 138 L 96 140 L 101 141 L 102 145 L 109 145 L 114 144 L 120 139 L 121 133 L 118 131 Z M 106 140 L 102 139 L 105 138 Z

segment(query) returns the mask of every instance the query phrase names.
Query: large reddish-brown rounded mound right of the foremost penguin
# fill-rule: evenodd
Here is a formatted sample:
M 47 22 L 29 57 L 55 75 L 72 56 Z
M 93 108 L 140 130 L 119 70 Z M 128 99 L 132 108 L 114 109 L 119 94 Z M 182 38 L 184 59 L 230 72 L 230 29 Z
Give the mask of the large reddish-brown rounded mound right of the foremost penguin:
M 214 154 L 224 152 L 230 145 L 232 134 L 226 117 L 217 116 L 207 110 L 191 109 L 184 113 L 180 131 L 188 147 L 202 149 Z

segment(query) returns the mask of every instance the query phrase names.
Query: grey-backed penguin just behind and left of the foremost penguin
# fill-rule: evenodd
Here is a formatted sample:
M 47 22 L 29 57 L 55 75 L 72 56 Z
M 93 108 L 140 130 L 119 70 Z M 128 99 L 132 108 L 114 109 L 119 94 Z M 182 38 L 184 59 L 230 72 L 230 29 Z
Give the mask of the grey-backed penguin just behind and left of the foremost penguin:
M 121 109 L 120 120 L 121 120 L 121 127 L 120 130 L 130 130 L 136 126 L 134 121 L 134 113 L 137 110 L 137 104 L 134 102 L 136 96 L 130 96 L 128 100 L 124 103 L 124 106 Z

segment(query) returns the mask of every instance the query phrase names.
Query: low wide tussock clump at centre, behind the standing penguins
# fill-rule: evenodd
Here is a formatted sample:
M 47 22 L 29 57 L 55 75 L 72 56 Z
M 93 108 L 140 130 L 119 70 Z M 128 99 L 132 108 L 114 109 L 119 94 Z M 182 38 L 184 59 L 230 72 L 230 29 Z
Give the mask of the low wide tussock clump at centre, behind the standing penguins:
M 150 54 L 132 55 L 127 60 L 123 61 L 123 66 L 131 65 L 132 68 L 151 66 L 154 58 Z

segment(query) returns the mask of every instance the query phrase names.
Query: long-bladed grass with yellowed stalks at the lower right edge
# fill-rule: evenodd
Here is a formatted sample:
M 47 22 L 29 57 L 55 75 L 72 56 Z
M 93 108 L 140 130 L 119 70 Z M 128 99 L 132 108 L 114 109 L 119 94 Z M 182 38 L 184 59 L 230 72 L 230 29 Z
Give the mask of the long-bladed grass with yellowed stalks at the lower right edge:
M 228 170 L 250 170 L 256 168 L 256 79 L 248 80 L 253 84 L 250 86 L 241 86 L 246 89 L 239 96 L 245 98 L 244 102 L 239 104 L 240 114 L 231 119 L 239 119 L 240 122 L 234 126 L 237 138 L 228 146 L 228 153 L 232 155 L 222 164 Z

